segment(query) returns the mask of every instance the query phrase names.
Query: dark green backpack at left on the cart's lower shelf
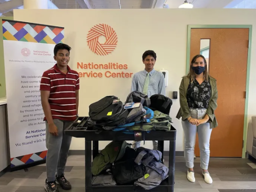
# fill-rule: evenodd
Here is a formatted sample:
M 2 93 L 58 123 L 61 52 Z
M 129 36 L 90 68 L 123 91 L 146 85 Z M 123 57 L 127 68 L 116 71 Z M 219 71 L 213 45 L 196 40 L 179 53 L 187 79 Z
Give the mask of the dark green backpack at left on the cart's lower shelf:
M 98 176 L 106 168 L 124 156 L 126 141 L 112 141 L 92 160 L 92 175 Z

